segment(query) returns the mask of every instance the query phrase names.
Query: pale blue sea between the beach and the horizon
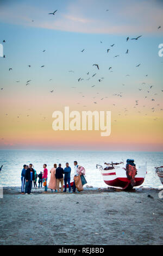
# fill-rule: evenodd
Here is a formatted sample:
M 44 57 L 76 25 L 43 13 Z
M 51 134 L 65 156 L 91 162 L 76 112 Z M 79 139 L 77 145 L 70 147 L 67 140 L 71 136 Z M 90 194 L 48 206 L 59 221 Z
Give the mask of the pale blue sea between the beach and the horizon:
M 37 174 L 43 171 L 43 164 L 47 164 L 48 180 L 49 171 L 54 163 L 62 164 L 65 168 L 66 162 L 72 168 L 77 161 L 86 170 L 86 181 L 94 188 L 108 187 L 103 181 L 101 172 L 96 169 L 96 164 L 104 166 L 104 162 L 126 162 L 127 159 L 134 159 L 136 166 L 144 165 L 147 162 L 147 175 L 141 186 L 163 188 L 160 179 L 155 174 L 155 166 L 163 165 L 163 152 L 126 152 L 126 151 L 55 151 L 55 150 L 0 150 L 0 186 L 21 186 L 21 171 L 23 164 L 32 163 Z

